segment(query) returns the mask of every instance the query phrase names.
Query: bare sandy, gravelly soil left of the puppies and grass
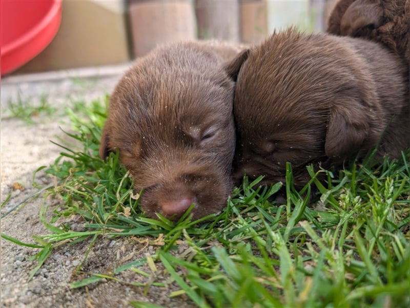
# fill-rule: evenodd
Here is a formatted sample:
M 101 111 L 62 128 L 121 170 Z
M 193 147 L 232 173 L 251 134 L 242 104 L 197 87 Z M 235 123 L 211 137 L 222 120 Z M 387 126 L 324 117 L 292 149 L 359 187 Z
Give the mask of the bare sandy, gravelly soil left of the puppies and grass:
M 33 235 L 48 233 L 39 221 L 39 210 L 43 198 L 29 200 L 38 188 L 33 187 L 33 171 L 48 165 L 58 157 L 59 148 L 50 140 L 64 137 L 59 129 L 67 127 L 66 119 L 58 113 L 55 117 L 36 119 L 36 124 L 27 124 L 10 117 L 8 104 L 17 99 L 31 98 L 33 104 L 40 95 L 47 93 L 48 100 L 63 108 L 72 100 L 84 98 L 86 102 L 110 92 L 126 66 L 106 70 L 80 70 L 74 72 L 16 76 L 2 80 L 2 122 L 1 122 L 1 199 L 10 195 L 2 207 L 2 234 L 22 242 L 35 243 Z M 97 76 L 97 77 L 96 77 Z M 80 82 L 79 82 L 80 81 Z M 66 123 L 66 124 L 64 124 Z M 47 185 L 51 179 L 39 172 L 35 181 Z M 48 198 L 45 202 L 52 208 L 57 200 Z M 75 222 L 76 217 L 70 218 Z M 168 287 L 151 287 L 147 294 L 143 287 L 127 283 L 103 280 L 88 287 L 72 290 L 70 282 L 79 280 L 75 273 L 84 260 L 90 241 L 74 245 L 62 245 L 53 250 L 34 278 L 27 281 L 30 272 L 37 265 L 32 260 L 38 250 L 1 240 L 1 302 L 2 307 L 128 307 L 129 301 L 140 300 L 165 307 L 194 307 L 184 297 L 169 298 L 177 290 Z M 113 268 L 137 260 L 146 254 L 153 254 L 156 247 L 130 239 L 99 238 L 91 249 L 83 269 L 90 273 L 109 273 Z M 148 266 L 142 270 L 151 273 Z M 163 268 L 158 264 L 157 281 L 161 281 Z M 116 276 L 126 282 L 145 282 L 128 270 Z

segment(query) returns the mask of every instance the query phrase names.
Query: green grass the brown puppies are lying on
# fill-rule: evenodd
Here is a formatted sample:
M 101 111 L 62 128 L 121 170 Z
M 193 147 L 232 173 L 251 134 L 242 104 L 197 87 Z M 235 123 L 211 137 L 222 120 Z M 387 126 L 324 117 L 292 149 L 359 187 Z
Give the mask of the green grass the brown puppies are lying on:
M 222 213 L 197 222 L 186 215 L 174 223 L 144 216 L 138 206 L 141 192 L 133 191 L 117 154 L 112 153 L 107 162 L 98 158 L 106 103 L 94 102 L 88 109 L 67 113 L 76 131 L 69 134 L 73 144 L 58 142 L 61 156 L 46 167 L 58 180 L 47 194 L 63 201 L 60 207 L 44 205 L 40 213 L 49 234 L 34 236 L 37 245 L 2 235 L 38 249 L 38 266 L 31 277 L 58 245 L 91 238 L 92 249 L 100 236 L 132 236 L 159 239 L 162 245 L 153 255 L 115 268 L 111 276 L 88 274 L 71 287 L 103 278 L 146 291 L 174 283 L 180 290 L 171 296 L 185 294 L 199 307 L 410 305 L 410 151 L 372 168 L 364 162 L 337 174 L 320 170 L 327 175 L 326 186 L 309 169 L 312 180 L 301 191 L 294 188 L 288 165 L 285 204 L 269 201 L 282 184 L 257 187 L 260 179 L 249 183 L 245 178 Z M 309 198 L 316 203 L 309 204 Z M 53 218 L 47 220 L 50 211 Z M 71 215 L 83 218 L 83 230 L 60 223 Z M 179 253 L 181 240 L 188 248 Z M 139 268 L 145 264 L 151 272 Z M 155 278 L 156 264 L 167 269 L 166 282 Z M 122 271 L 133 271 L 148 282 L 120 281 L 116 274 Z

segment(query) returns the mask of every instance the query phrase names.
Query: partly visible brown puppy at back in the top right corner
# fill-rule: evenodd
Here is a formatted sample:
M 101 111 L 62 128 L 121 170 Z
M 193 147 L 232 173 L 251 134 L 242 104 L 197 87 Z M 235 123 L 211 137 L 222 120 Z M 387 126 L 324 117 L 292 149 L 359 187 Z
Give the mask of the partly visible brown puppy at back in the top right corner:
M 327 32 L 369 38 L 410 63 L 410 0 L 340 0 Z

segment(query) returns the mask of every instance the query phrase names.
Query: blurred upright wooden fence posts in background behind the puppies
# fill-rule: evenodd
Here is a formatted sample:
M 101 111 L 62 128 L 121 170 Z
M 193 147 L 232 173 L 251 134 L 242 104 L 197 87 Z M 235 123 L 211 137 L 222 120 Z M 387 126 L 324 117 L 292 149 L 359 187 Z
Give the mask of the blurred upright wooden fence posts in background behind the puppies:
M 323 31 L 336 0 L 130 0 L 134 56 L 158 43 L 217 38 L 256 43 L 295 25 Z

